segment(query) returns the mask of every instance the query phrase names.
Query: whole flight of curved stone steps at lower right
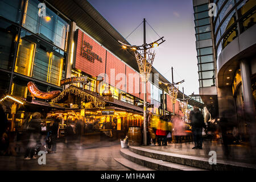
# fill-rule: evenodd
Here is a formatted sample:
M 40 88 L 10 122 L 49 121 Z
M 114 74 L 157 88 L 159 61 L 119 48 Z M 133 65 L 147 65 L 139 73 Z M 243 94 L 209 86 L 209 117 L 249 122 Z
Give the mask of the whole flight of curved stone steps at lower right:
M 117 162 L 135 171 L 152 169 L 159 171 L 256 171 L 254 164 L 217 160 L 216 164 L 211 165 L 208 158 L 173 154 L 144 147 L 121 148 L 120 153 L 125 159 L 117 159 Z

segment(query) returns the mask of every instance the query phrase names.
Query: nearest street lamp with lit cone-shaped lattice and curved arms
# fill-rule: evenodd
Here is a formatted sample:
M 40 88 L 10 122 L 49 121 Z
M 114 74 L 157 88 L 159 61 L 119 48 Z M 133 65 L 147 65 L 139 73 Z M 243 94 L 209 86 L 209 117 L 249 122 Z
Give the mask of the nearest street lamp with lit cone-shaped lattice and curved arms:
M 142 46 L 130 46 L 125 43 L 122 43 L 121 41 L 118 40 L 118 42 L 122 45 L 123 49 L 130 48 L 134 51 L 137 64 L 139 67 L 139 73 L 142 77 L 142 82 L 144 86 L 144 97 L 143 97 L 143 145 L 147 146 L 147 113 L 146 113 L 146 89 L 147 89 L 147 80 L 150 76 L 151 73 L 151 68 L 152 64 L 155 58 L 155 51 L 152 50 L 152 48 L 158 47 L 160 44 L 162 44 L 164 41 L 164 37 L 147 44 L 146 43 L 146 20 L 143 19 L 143 37 L 144 37 L 144 42 Z

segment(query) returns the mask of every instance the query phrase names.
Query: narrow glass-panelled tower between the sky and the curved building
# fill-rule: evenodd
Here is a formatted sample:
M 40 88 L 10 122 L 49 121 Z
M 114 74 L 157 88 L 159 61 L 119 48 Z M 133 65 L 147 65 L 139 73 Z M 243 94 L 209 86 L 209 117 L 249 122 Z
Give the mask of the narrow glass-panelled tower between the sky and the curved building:
M 199 94 L 212 117 L 217 117 L 216 107 L 216 60 L 213 45 L 212 19 L 209 16 L 209 2 L 193 1 Z M 212 99 L 210 99 L 212 98 Z

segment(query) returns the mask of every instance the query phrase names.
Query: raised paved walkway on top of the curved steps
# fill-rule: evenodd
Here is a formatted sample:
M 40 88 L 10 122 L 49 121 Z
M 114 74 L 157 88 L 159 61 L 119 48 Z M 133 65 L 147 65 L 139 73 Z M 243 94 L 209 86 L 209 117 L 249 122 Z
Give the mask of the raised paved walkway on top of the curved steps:
M 171 152 L 174 154 L 198 156 L 209 159 L 209 151 L 216 151 L 217 159 L 234 162 L 256 164 L 256 151 L 249 146 L 232 144 L 228 146 L 229 155 L 225 155 L 224 147 L 216 142 L 204 142 L 203 150 L 192 149 L 192 142 L 187 143 L 168 143 L 168 146 L 142 146 L 151 150 Z

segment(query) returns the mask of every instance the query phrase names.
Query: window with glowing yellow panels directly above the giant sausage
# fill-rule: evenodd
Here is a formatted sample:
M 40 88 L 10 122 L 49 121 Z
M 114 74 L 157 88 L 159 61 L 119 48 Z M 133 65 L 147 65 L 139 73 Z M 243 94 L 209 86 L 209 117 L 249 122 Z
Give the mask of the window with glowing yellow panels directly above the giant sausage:
M 64 52 L 24 30 L 20 36 L 14 71 L 60 86 L 65 77 Z

